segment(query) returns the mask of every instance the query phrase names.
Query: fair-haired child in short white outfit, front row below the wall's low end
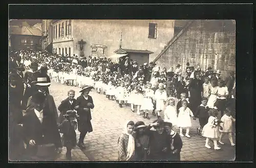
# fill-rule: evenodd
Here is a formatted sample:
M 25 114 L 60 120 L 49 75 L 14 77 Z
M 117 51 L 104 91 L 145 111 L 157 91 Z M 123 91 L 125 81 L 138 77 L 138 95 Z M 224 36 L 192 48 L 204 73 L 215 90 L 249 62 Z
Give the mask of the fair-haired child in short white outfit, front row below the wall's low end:
M 164 90 L 163 83 L 159 83 L 158 88 L 155 92 L 155 102 L 156 102 L 156 111 L 157 111 L 157 118 L 160 117 L 160 112 L 164 110 L 164 105 L 167 100 L 167 93 Z

